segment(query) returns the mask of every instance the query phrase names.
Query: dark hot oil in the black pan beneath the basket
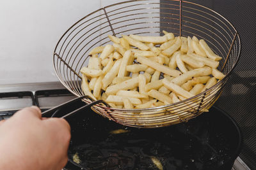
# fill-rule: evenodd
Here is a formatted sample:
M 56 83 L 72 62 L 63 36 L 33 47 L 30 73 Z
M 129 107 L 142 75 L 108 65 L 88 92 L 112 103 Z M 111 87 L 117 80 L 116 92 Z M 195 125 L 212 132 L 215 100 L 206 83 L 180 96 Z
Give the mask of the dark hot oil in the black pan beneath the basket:
M 218 169 L 230 153 L 225 135 L 204 118 L 157 129 L 124 127 L 95 113 L 72 121 L 69 157 L 77 154 L 85 169 Z

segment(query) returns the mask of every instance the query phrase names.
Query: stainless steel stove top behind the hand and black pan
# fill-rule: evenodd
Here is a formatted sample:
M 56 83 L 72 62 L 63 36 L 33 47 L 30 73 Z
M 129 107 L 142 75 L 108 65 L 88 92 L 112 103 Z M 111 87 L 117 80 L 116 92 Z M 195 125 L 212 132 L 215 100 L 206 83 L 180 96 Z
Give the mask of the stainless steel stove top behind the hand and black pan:
M 38 106 L 42 111 L 76 98 L 60 82 L 26 83 L 0 85 L 0 120 L 28 106 Z M 67 164 L 65 170 L 75 169 Z M 240 157 L 237 157 L 232 169 L 249 169 Z

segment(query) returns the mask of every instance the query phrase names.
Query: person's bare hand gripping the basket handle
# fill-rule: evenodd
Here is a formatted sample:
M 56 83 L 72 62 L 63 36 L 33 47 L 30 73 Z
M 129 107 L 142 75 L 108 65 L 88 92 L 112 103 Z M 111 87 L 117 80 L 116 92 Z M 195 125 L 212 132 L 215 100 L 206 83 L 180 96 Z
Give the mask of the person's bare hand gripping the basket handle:
M 36 106 L 0 122 L 0 169 L 60 170 L 67 164 L 70 126 L 42 118 Z

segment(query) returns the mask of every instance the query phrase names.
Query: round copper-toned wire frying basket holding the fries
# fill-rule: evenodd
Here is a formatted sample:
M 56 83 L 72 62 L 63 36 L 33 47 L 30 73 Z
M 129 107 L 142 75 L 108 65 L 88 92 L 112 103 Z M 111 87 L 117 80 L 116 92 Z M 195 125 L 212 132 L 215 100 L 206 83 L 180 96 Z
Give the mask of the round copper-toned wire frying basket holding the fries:
M 108 35 L 175 36 L 204 39 L 223 59 L 218 67 L 225 76 L 216 85 L 179 103 L 147 109 L 118 109 L 95 104 L 92 109 L 109 120 L 131 127 L 163 127 L 186 122 L 203 113 L 220 97 L 223 86 L 237 64 L 241 43 L 236 29 L 215 11 L 188 1 L 137 0 L 111 4 L 81 18 L 60 38 L 53 64 L 61 83 L 76 96 L 81 89 L 81 67 L 87 66 L 88 53 L 96 46 L 111 43 Z M 92 99 L 84 99 L 92 103 Z

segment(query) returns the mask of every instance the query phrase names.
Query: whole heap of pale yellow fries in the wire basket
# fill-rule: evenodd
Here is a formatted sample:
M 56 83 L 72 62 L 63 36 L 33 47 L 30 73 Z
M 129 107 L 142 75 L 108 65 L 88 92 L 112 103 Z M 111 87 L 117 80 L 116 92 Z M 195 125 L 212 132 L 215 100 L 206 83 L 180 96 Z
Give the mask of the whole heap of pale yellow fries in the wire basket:
M 113 45 L 90 51 L 82 90 L 113 108 L 142 109 L 172 104 L 215 85 L 221 57 L 196 36 L 109 35 Z

